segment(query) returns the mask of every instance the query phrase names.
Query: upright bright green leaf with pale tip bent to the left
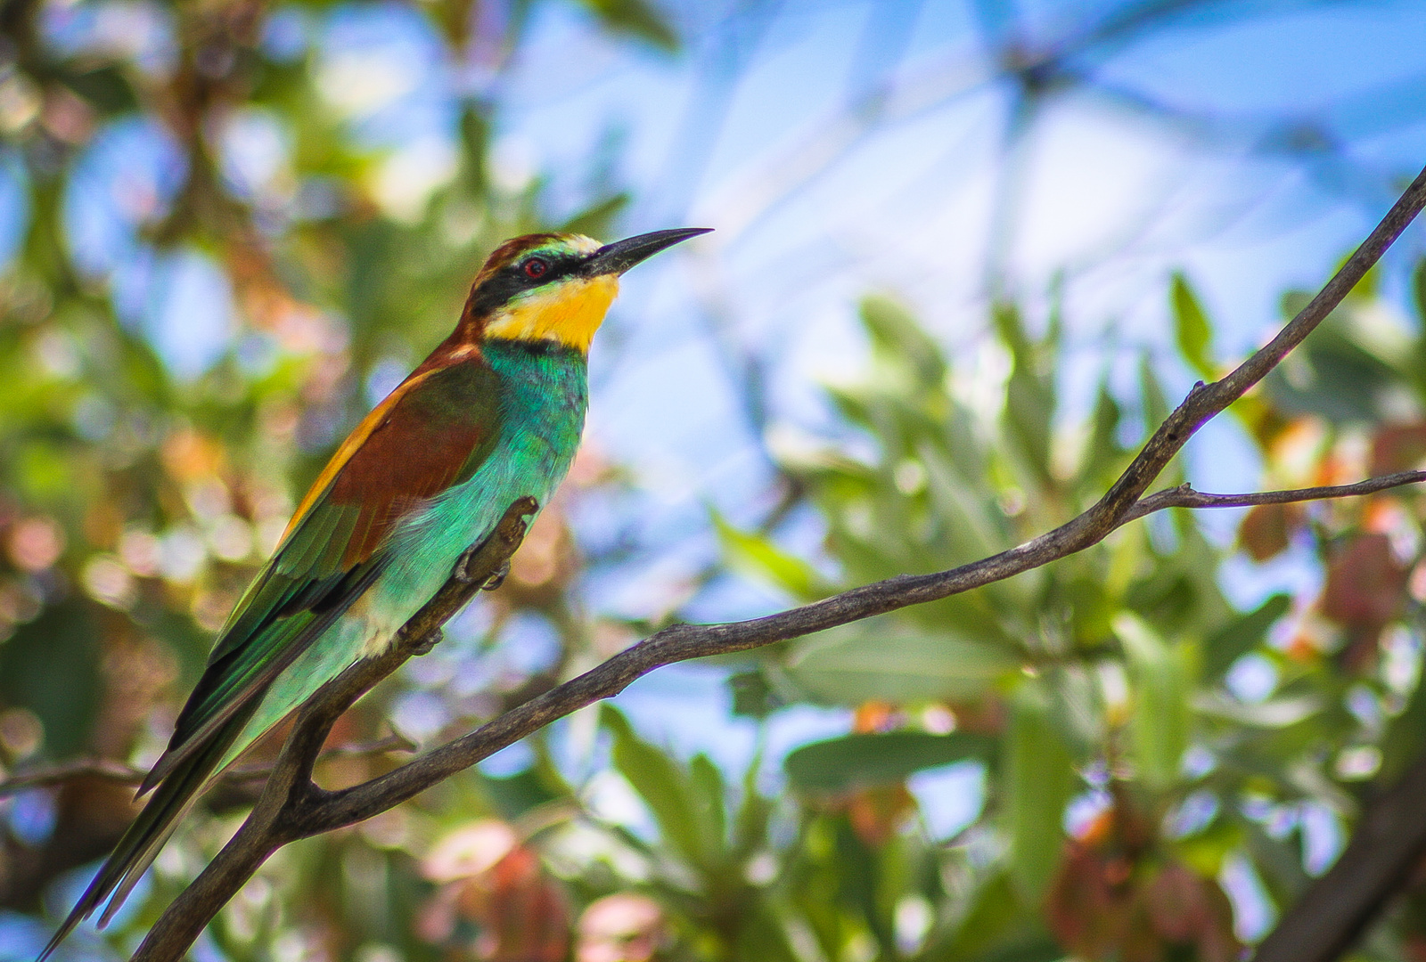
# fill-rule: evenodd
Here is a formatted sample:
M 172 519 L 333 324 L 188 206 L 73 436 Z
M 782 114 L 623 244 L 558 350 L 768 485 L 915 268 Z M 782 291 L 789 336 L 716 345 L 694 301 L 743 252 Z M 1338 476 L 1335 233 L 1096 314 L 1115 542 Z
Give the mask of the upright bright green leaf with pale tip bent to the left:
M 1129 613 L 1114 619 L 1134 686 L 1129 728 L 1144 782 L 1164 790 L 1178 780 L 1191 724 L 1182 657 L 1154 629 Z

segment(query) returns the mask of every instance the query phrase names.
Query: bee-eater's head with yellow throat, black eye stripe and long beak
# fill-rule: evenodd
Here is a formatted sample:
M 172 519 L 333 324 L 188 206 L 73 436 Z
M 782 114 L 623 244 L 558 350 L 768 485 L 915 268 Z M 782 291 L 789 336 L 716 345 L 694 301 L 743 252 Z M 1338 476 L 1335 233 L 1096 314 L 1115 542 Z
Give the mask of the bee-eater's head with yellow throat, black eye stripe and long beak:
M 526 234 L 495 248 L 462 321 L 482 338 L 545 341 L 588 352 L 619 292 L 619 275 L 707 228 L 640 234 L 600 245 L 580 234 Z

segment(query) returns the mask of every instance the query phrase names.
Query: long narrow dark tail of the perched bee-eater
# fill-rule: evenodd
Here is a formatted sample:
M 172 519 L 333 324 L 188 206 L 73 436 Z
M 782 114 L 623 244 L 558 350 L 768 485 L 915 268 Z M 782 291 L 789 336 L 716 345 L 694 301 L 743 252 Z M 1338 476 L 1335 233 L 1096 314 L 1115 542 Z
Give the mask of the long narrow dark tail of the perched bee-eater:
M 124 904 L 124 899 L 128 898 L 130 891 L 143 878 L 144 871 L 158 857 L 158 851 L 178 827 L 178 819 L 198 801 L 202 788 L 217 774 L 222 757 L 242 733 L 244 725 L 247 725 L 248 718 L 261 701 L 261 697 L 250 700 L 222 728 L 214 733 L 201 751 L 194 752 L 168 772 L 163 784 L 154 790 L 148 804 L 138 812 L 138 818 L 134 819 L 134 824 L 118 839 L 114 852 L 104 862 L 104 868 L 94 876 L 90 886 L 84 889 L 84 895 L 80 896 L 78 904 L 74 905 L 74 909 L 64 919 L 64 924 L 60 925 L 50 943 L 44 946 L 40 962 L 44 962 L 54 952 L 56 946 L 74 931 L 76 925 L 93 915 L 94 909 L 104 899 L 108 899 L 108 906 L 100 916 L 98 924 L 100 926 L 108 924 Z

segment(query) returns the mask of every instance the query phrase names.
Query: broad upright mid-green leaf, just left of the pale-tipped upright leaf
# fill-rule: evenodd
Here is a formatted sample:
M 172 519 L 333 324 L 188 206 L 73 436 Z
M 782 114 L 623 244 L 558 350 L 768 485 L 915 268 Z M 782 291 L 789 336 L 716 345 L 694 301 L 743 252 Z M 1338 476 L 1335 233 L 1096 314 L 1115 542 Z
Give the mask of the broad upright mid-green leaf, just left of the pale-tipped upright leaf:
M 1074 760 L 1044 684 L 1021 684 L 1010 708 L 1004 778 L 1010 871 L 1020 894 L 1035 904 L 1060 868 Z

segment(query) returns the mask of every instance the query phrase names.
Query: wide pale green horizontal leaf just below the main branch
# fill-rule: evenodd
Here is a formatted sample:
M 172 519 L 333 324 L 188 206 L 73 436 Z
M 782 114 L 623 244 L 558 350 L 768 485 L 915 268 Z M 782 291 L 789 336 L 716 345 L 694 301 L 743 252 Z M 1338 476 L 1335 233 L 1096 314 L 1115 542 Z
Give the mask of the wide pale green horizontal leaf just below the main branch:
M 868 619 L 797 641 L 787 676 L 827 701 L 897 704 L 984 694 L 1021 658 L 1010 648 L 950 631 L 917 630 Z

